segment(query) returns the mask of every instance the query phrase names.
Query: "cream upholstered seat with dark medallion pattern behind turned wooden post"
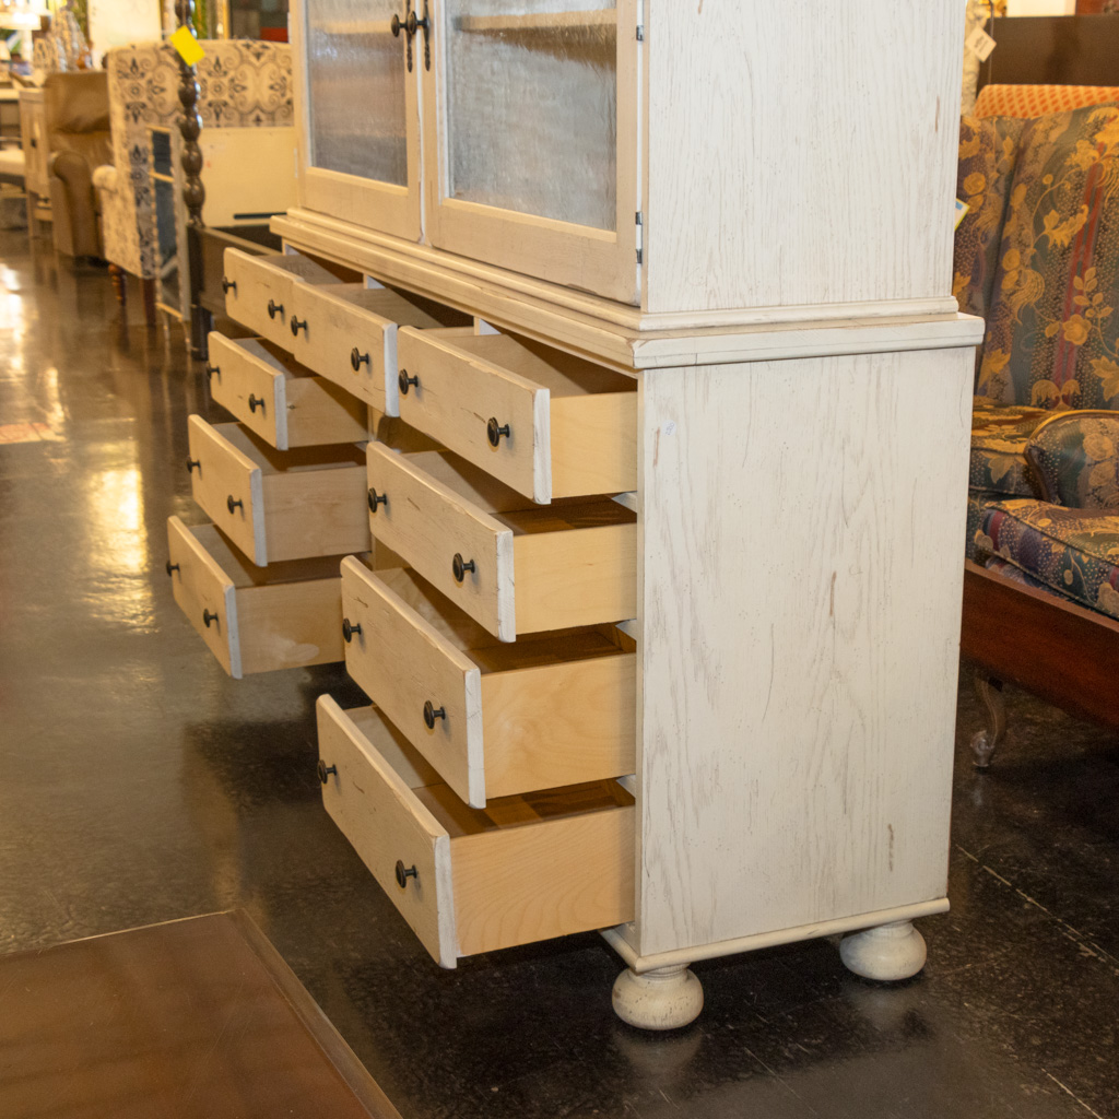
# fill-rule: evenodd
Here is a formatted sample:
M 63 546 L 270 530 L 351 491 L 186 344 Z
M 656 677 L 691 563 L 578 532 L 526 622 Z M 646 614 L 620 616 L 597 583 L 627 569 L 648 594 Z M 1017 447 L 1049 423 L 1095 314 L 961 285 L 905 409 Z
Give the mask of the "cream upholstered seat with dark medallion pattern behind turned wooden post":
M 198 114 L 203 131 L 222 128 L 291 125 L 291 48 L 252 39 L 204 39 L 198 63 Z M 104 255 L 124 298 L 128 272 L 153 307 L 156 216 L 150 176 L 149 126 L 178 124 L 178 56 L 166 43 L 139 43 L 109 51 L 112 164 L 98 168 Z

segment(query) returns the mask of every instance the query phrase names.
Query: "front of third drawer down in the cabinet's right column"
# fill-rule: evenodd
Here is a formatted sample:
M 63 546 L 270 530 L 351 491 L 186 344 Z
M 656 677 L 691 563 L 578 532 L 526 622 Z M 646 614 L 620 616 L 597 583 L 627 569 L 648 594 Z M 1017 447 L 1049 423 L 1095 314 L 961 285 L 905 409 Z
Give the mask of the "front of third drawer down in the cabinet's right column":
M 346 670 L 459 796 L 485 803 L 478 666 L 352 558 L 342 561 L 342 615 L 357 630 Z

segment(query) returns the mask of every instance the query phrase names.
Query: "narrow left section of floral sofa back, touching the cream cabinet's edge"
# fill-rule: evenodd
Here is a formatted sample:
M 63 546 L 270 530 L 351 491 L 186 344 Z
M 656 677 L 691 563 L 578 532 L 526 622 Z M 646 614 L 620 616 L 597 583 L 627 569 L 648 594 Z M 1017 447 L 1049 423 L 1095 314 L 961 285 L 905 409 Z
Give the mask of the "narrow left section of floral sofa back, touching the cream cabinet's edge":
M 987 318 L 1006 201 L 1025 121 L 1013 117 L 960 120 L 956 197 L 968 204 L 956 229 L 952 294 L 966 314 Z M 979 354 L 976 355 L 978 363 Z

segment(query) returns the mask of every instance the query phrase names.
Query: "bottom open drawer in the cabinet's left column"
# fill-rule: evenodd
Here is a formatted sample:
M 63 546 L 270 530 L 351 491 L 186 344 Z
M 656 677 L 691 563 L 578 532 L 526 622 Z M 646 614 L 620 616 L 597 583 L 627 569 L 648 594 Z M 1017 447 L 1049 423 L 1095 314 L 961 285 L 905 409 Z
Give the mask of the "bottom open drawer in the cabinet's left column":
M 342 659 L 337 556 L 255 567 L 213 525 L 167 521 L 175 601 L 234 679 Z

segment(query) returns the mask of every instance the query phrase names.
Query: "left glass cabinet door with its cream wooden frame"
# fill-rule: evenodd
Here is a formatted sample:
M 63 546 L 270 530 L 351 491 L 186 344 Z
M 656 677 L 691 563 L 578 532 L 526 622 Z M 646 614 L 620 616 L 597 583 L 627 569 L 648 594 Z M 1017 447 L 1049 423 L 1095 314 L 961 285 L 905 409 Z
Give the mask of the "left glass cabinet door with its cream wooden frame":
M 385 233 L 420 237 L 417 81 L 404 0 L 302 0 L 293 8 L 301 73 L 302 205 Z

